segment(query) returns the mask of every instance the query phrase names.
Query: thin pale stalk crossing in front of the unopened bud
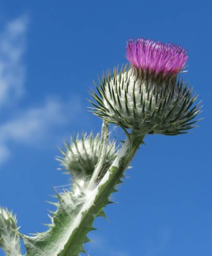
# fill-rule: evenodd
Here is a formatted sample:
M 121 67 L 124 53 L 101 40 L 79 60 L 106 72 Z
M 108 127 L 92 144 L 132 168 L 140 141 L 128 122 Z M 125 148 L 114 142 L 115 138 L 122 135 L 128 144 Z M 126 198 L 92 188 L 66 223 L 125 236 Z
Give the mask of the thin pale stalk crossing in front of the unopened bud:
M 103 121 L 102 123 L 102 131 L 101 131 L 101 142 L 100 142 L 100 156 L 99 161 L 95 167 L 95 170 L 93 171 L 92 177 L 88 184 L 88 189 L 92 189 L 95 184 L 96 180 L 99 176 L 99 173 L 102 169 L 102 166 L 104 164 L 104 160 L 107 153 L 107 146 L 108 146 L 108 122 Z

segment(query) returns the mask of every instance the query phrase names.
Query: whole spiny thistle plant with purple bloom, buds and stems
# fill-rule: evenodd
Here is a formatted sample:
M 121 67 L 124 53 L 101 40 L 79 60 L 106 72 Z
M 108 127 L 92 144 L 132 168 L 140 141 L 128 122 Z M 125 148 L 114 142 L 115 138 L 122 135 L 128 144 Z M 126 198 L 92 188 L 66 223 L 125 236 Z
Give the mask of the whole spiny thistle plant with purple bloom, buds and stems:
M 148 134 L 179 135 L 187 133 L 199 120 L 201 107 L 197 96 L 183 82 L 188 59 L 186 50 L 172 43 L 129 40 L 128 65 L 115 67 L 99 78 L 90 100 L 94 114 L 102 119 L 101 136 L 77 135 L 65 143 L 57 157 L 62 170 L 70 175 L 72 185 L 51 202 L 48 230 L 33 236 L 23 235 L 16 218 L 0 210 L 0 246 L 6 255 L 21 255 L 19 239 L 27 256 L 77 256 L 90 241 L 93 220 L 105 217 L 103 208 L 112 203 L 110 195 L 122 182 L 124 171 Z M 120 126 L 126 134 L 117 145 L 109 141 L 109 123 Z

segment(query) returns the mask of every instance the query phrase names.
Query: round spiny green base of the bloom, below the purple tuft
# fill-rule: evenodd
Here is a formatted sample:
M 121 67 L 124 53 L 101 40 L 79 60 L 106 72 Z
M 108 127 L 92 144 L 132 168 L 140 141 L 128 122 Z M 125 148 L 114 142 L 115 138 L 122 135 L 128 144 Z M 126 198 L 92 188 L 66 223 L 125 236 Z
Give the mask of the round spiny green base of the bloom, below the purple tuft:
M 93 112 L 108 122 L 142 134 L 176 135 L 194 127 L 197 96 L 176 75 L 155 75 L 135 67 L 114 68 L 93 91 Z

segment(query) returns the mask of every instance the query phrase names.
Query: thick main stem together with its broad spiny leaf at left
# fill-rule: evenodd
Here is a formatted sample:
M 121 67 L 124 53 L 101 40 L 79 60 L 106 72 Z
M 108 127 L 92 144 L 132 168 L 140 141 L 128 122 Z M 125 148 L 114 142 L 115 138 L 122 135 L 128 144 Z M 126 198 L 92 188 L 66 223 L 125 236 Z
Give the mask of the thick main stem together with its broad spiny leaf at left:
M 107 124 L 105 129 L 107 133 Z M 78 256 L 84 252 L 83 244 L 89 240 L 87 233 L 93 230 L 93 220 L 104 216 L 103 208 L 111 203 L 109 196 L 116 191 L 115 186 L 120 183 L 143 137 L 129 134 L 101 181 L 91 190 L 85 188 L 83 197 L 73 197 L 70 192 L 57 195 L 59 206 L 53 213 L 50 229 L 35 237 L 23 236 L 27 256 Z

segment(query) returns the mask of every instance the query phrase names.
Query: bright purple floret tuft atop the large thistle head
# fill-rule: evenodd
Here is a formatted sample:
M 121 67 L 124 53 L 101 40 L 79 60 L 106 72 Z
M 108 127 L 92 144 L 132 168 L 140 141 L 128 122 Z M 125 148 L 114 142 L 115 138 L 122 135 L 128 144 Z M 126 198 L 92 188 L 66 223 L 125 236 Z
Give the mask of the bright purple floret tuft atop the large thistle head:
M 176 74 L 185 66 L 188 59 L 186 50 L 172 43 L 154 42 L 138 38 L 130 39 L 126 46 L 126 58 L 135 67 L 154 72 Z

